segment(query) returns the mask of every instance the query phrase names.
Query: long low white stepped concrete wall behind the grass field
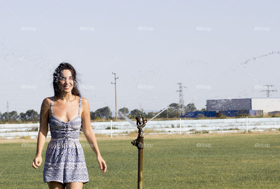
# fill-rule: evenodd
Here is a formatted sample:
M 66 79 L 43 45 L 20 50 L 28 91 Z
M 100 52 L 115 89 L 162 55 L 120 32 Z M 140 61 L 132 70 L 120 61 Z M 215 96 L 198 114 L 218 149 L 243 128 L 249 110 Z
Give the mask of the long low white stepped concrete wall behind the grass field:
M 179 120 L 171 121 L 150 121 L 143 128 L 143 132 L 149 134 L 156 133 L 179 133 L 180 128 Z M 111 122 L 93 122 L 92 126 L 95 127 L 94 132 L 96 134 L 110 135 L 111 130 L 105 129 L 111 127 Z M 0 124 L 0 138 L 20 138 L 24 136 L 30 136 L 31 138 L 37 138 L 38 131 L 22 131 L 26 130 L 23 127 L 36 127 L 37 123 L 31 124 Z M 112 126 L 118 129 L 113 129 L 113 135 L 126 135 L 132 131 L 138 131 L 134 126 L 131 126 L 127 121 L 112 121 Z M 9 132 L 8 128 L 17 130 L 18 132 Z M 246 130 L 246 118 L 238 119 L 190 119 L 181 120 L 181 132 L 192 133 L 194 131 L 207 130 L 209 133 L 225 133 L 225 132 L 239 132 Z M 278 130 L 280 128 L 280 118 L 248 118 L 248 130 L 252 131 L 264 131 L 264 130 Z M 136 134 L 137 135 L 137 134 Z M 50 137 L 50 132 L 48 132 Z

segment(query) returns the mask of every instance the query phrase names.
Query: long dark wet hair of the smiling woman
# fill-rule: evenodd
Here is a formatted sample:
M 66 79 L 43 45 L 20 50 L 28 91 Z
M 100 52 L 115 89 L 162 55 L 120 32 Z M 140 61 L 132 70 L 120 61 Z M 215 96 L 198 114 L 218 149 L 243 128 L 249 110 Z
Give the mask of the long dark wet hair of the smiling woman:
M 78 82 L 80 82 L 80 80 L 78 79 L 79 75 L 76 72 L 75 68 L 67 62 L 60 63 L 59 66 L 55 69 L 55 72 L 53 73 L 53 90 L 55 96 L 60 97 L 64 95 L 64 88 L 63 85 L 60 83 L 60 80 L 63 80 L 63 70 L 70 70 L 70 72 L 72 73 L 72 77 L 74 80 L 74 87 L 71 91 L 72 94 L 75 96 L 81 96 L 81 92 L 78 88 Z

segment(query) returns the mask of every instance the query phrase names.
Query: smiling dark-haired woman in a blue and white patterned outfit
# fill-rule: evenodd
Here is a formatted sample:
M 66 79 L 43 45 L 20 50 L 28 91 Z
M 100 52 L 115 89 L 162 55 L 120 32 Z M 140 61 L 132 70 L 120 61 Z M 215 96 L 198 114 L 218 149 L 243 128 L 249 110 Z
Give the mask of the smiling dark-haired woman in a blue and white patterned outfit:
M 55 69 L 53 89 L 55 96 L 45 98 L 41 105 L 37 151 L 32 166 L 37 169 L 42 163 L 41 154 L 50 125 L 51 140 L 46 150 L 44 182 L 53 189 L 83 188 L 89 179 L 79 142 L 81 128 L 96 155 L 101 172 L 105 173 L 107 167 L 90 124 L 88 100 L 81 97 L 76 70 L 71 64 L 63 62 Z

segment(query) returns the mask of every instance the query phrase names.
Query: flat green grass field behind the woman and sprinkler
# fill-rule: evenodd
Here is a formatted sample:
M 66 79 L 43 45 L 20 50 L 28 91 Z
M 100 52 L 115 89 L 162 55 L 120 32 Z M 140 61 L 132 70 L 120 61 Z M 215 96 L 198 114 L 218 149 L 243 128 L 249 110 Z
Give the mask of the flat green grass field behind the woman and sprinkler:
M 279 136 L 207 134 L 144 138 L 143 188 L 279 188 Z M 98 140 L 108 166 L 105 174 L 101 174 L 87 141 L 80 141 L 85 146 L 90 178 L 83 188 L 137 188 L 138 149 L 131 141 L 131 137 Z M 34 144 L 0 144 L 1 189 L 48 188 L 43 183 L 43 163 L 38 169 L 31 167 L 36 152 Z

